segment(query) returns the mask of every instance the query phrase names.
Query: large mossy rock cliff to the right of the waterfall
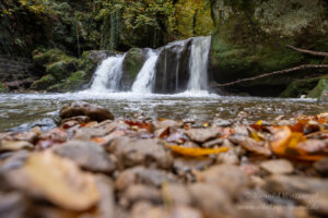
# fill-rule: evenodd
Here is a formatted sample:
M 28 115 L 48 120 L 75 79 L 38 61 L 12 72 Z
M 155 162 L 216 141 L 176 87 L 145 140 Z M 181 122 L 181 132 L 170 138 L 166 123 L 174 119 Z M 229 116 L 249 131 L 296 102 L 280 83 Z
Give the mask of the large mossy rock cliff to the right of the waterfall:
M 210 68 L 218 83 L 325 61 L 285 48 L 328 50 L 328 5 L 324 0 L 211 0 L 211 10 L 215 31 Z M 260 88 L 263 95 L 278 95 L 294 77 L 309 73 L 267 77 L 233 89 L 254 94 Z

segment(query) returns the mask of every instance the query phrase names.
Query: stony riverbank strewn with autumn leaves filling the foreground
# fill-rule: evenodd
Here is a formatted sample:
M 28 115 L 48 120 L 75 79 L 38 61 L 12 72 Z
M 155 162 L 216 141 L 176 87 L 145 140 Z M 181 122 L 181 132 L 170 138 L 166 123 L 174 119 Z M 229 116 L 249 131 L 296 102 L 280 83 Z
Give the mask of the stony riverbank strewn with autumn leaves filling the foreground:
M 0 133 L 0 217 L 326 217 L 328 114 L 197 124 L 73 102 Z

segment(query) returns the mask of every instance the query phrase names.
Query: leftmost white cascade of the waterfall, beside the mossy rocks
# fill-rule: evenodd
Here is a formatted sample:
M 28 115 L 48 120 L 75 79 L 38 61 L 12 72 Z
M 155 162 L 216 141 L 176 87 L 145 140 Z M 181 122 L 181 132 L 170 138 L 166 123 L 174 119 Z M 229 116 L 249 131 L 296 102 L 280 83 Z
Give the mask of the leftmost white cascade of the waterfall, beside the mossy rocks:
M 94 74 L 90 90 L 117 92 L 125 57 L 126 55 L 117 55 L 105 59 Z

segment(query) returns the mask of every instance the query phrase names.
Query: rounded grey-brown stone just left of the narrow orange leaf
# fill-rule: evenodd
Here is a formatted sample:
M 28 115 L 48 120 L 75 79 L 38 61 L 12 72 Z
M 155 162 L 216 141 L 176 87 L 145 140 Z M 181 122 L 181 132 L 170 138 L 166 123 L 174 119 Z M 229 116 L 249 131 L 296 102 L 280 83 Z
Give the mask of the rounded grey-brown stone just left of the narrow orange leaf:
M 159 140 L 115 138 L 108 150 L 117 156 L 120 167 L 137 165 L 167 169 L 172 166 L 171 152 Z

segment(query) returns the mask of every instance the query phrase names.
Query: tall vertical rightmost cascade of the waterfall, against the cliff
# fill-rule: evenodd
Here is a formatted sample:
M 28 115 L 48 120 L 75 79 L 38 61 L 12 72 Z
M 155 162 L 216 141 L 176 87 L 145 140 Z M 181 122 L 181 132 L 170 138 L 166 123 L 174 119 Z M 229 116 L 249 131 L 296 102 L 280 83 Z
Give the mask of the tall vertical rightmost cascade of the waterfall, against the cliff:
M 206 90 L 208 88 L 208 60 L 211 46 L 211 36 L 192 38 L 189 58 L 188 90 Z

